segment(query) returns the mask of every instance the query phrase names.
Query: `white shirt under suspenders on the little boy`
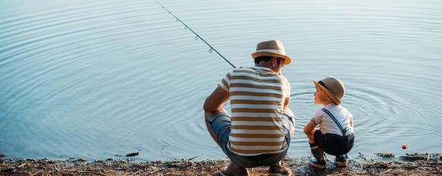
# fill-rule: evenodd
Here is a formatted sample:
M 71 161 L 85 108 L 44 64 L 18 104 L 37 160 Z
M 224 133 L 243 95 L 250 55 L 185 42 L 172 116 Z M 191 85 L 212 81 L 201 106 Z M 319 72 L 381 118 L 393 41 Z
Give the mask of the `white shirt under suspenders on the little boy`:
M 345 107 L 330 103 L 323 108 L 332 113 L 344 129 L 347 128 L 346 135 L 353 133 L 353 127 L 351 125 L 353 124 L 353 115 L 347 109 L 345 109 Z M 329 117 L 329 115 L 327 115 L 327 113 L 323 111 L 323 109 L 316 110 L 311 120 L 320 126 L 320 131 L 323 134 L 332 133 L 343 135 L 343 133 L 340 132 L 338 125 L 333 121 L 332 118 Z

